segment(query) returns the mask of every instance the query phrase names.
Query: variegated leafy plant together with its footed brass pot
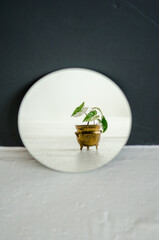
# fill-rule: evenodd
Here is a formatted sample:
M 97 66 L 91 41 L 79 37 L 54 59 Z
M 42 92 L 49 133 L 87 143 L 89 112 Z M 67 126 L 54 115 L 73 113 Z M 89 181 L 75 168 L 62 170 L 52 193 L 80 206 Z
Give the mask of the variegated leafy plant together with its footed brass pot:
M 87 122 L 86 125 L 76 125 L 77 132 L 75 134 L 77 141 L 80 145 L 80 150 L 82 150 L 83 146 L 86 146 L 87 149 L 91 146 L 96 146 L 96 149 L 98 149 L 101 133 L 107 130 L 108 123 L 100 108 L 93 107 L 87 113 L 89 108 L 84 105 L 85 102 L 78 106 L 71 115 L 71 117 L 80 117 L 85 114 L 83 122 Z

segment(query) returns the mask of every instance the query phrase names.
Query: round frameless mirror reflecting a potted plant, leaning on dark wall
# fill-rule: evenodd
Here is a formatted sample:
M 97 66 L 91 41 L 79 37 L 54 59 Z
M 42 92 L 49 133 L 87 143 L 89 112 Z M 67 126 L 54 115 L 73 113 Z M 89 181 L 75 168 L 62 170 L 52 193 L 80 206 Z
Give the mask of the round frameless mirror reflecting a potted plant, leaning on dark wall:
M 132 116 L 121 89 L 98 72 L 67 68 L 37 81 L 18 115 L 31 155 L 64 172 L 85 172 L 112 160 L 126 144 Z

